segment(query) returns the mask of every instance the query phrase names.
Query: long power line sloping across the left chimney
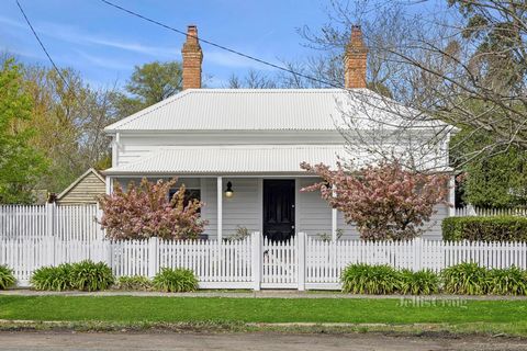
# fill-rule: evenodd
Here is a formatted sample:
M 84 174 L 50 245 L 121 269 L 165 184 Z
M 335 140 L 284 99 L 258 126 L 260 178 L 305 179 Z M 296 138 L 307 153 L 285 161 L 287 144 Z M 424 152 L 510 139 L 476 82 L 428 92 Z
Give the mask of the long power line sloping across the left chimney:
M 18 1 L 18 0 L 16 0 L 16 1 Z M 166 30 L 176 32 L 176 33 L 178 33 L 178 34 L 197 38 L 197 39 L 199 39 L 201 43 L 209 44 L 209 45 L 211 45 L 211 46 L 217 47 L 217 48 L 220 48 L 220 49 L 222 49 L 222 50 L 225 50 L 225 52 L 228 52 L 228 53 L 231 53 L 231 54 L 235 54 L 235 55 L 245 57 L 245 58 L 247 58 L 247 59 L 257 61 L 257 63 L 259 63 L 259 64 L 262 64 L 262 65 L 266 65 L 266 66 L 269 66 L 269 67 L 279 69 L 279 70 L 281 70 L 281 71 L 284 71 L 284 72 L 288 72 L 288 73 L 291 73 L 291 75 L 294 75 L 294 76 L 298 76 L 298 77 L 302 77 L 302 78 L 305 78 L 305 79 L 309 79 L 309 80 L 312 80 L 312 81 L 316 81 L 316 82 L 318 82 L 318 83 L 323 83 L 323 84 L 326 84 L 326 86 L 329 86 L 329 87 L 333 87 L 333 88 L 338 88 L 338 89 L 343 89 L 343 88 L 344 88 L 344 87 L 337 86 L 337 84 L 335 84 L 335 83 L 333 83 L 333 82 L 324 81 L 324 80 L 318 79 L 318 78 L 315 78 L 315 77 L 311 77 L 311 76 L 307 76 L 307 75 L 303 75 L 303 73 L 296 72 L 296 71 L 294 71 L 294 70 L 292 70 L 292 69 L 285 68 L 285 67 L 283 67 L 283 66 L 279 66 L 279 65 L 276 65 L 276 64 L 266 61 L 266 60 L 264 60 L 264 59 L 261 59 L 261 58 L 258 58 L 258 57 L 255 57 L 255 56 L 251 56 L 251 55 L 247 55 L 247 54 L 244 54 L 244 53 L 242 53 L 242 52 L 232 49 L 232 48 L 229 48 L 229 47 L 226 47 L 226 46 L 216 44 L 216 43 L 214 43 L 214 42 L 211 42 L 211 41 L 208 41 L 208 39 L 198 37 L 197 35 L 188 34 L 188 33 L 186 33 L 184 31 L 180 31 L 180 30 L 175 29 L 175 27 L 172 27 L 172 26 L 170 26 L 170 25 L 168 25 L 168 24 L 165 24 L 165 23 L 161 23 L 161 22 L 159 22 L 159 21 L 153 20 L 153 19 L 147 18 L 147 16 L 141 14 L 141 13 L 137 13 L 137 12 L 134 12 L 134 11 L 132 11 L 132 10 L 125 9 L 125 8 L 123 8 L 123 7 L 121 7 L 121 5 L 116 4 L 116 3 L 110 2 L 110 1 L 108 1 L 108 0 L 101 0 L 101 1 L 104 2 L 105 4 L 110 5 L 110 7 L 113 7 L 113 8 L 117 9 L 117 10 L 121 10 L 121 11 L 123 11 L 123 12 L 126 12 L 126 13 L 133 15 L 133 16 L 136 16 L 136 18 L 142 19 L 142 20 L 147 21 L 147 22 L 150 22 L 150 23 L 153 23 L 153 24 L 159 25 L 159 26 L 161 26 L 161 27 L 164 27 L 164 29 L 166 29 Z

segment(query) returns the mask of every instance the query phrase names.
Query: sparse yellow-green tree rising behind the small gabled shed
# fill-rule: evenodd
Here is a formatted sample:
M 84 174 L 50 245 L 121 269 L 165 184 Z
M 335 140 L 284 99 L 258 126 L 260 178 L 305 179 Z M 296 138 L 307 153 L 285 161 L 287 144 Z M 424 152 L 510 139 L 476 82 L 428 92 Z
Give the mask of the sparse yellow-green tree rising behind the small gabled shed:
M 60 192 L 90 167 L 102 166 L 110 154 L 104 126 L 115 121 L 113 89 L 93 89 L 72 69 L 24 67 L 24 89 L 33 100 L 27 126 L 32 145 L 49 159 L 40 188 Z M 108 162 L 106 162 L 108 165 Z

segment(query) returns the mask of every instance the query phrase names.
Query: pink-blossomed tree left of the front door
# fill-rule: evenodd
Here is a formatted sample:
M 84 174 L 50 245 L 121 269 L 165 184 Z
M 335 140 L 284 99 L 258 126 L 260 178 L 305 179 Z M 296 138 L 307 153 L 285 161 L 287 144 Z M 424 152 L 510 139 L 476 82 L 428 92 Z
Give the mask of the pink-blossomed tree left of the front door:
M 101 226 L 110 239 L 194 239 L 203 233 L 206 220 L 200 216 L 203 203 L 191 200 L 184 203 L 186 188 L 181 185 L 168 197 L 176 179 L 152 183 L 143 179 L 127 191 L 116 184 L 112 194 L 99 199 L 103 211 Z

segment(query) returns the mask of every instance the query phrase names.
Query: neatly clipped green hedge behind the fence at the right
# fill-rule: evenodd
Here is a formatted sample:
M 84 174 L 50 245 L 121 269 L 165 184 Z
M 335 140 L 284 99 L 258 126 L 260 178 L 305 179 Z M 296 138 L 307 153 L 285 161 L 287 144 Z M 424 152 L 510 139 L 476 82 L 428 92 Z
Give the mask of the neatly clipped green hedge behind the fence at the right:
M 524 217 L 448 217 L 441 227 L 444 240 L 527 241 Z

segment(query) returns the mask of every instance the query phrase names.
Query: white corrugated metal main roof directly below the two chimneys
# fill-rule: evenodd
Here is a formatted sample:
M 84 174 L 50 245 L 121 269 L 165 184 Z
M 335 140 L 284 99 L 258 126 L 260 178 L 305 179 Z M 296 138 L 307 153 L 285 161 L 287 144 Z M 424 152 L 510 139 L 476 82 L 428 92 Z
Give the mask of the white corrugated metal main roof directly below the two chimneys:
M 397 126 L 404 109 L 367 89 L 189 89 L 105 131 L 333 131 L 343 112 Z

